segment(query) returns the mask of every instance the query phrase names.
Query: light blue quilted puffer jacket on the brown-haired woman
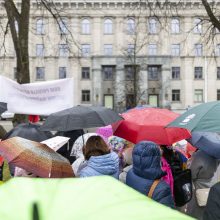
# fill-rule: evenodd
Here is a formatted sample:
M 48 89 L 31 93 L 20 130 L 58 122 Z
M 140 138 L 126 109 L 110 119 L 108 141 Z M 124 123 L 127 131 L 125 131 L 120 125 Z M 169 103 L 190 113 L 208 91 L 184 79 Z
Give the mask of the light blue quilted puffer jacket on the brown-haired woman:
M 87 161 L 86 167 L 81 169 L 80 177 L 109 175 L 118 179 L 119 158 L 115 152 L 102 156 L 92 156 Z

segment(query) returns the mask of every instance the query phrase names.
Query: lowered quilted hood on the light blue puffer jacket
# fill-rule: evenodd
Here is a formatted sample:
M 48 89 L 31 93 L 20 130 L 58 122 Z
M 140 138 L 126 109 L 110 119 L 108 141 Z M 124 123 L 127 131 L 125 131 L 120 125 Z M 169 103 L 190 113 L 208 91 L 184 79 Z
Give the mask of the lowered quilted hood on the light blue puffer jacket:
M 103 175 L 112 175 L 119 172 L 119 158 L 115 152 L 102 156 L 92 156 L 87 166 Z

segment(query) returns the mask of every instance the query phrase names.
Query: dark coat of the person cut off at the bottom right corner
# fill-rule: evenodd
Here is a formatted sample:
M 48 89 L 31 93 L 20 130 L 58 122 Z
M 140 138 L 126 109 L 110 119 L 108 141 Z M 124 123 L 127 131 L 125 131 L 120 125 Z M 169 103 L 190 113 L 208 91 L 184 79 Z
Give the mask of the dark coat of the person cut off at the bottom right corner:
M 220 219 L 220 182 L 211 187 L 203 220 Z

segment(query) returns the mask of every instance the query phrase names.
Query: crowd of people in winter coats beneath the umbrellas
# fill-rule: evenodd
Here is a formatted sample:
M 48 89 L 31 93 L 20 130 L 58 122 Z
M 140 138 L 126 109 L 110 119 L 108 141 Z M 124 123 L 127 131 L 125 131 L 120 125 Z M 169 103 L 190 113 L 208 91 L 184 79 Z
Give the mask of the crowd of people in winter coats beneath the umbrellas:
M 74 177 L 109 175 L 196 219 L 219 219 L 219 202 L 216 214 L 213 206 L 217 204 L 215 191 L 220 191 L 220 183 L 210 190 L 220 180 L 219 161 L 214 157 L 196 150 L 186 164 L 172 146 L 159 146 L 148 140 L 133 144 L 116 136 L 74 132 L 77 135 L 70 140 L 72 147 L 58 151 L 71 162 Z M 75 144 L 77 138 L 83 141 Z M 14 176 L 36 177 L 21 168 L 15 169 Z M 208 203 L 206 190 L 210 190 Z M 200 204 L 201 200 L 205 201 Z

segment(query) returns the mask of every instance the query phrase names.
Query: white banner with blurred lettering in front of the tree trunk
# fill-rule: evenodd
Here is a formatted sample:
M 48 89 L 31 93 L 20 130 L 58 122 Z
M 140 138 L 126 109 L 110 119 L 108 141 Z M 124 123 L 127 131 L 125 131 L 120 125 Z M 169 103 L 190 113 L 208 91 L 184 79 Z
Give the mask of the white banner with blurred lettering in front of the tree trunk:
M 8 111 L 28 115 L 49 115 L 73 107 L 73 78 L 19 84 L 0 76 L 0 102 Z

